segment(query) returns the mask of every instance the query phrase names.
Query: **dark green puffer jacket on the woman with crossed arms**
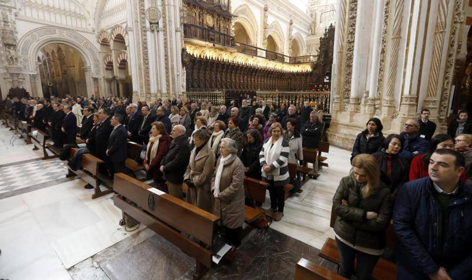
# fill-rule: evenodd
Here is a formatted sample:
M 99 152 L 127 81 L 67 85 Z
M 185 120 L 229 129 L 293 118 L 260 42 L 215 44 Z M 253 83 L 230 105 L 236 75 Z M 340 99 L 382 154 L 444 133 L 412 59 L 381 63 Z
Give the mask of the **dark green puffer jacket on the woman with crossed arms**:
M 390 190 L 385 184 L 367 198 L 362 198 L 362 184 L 352 176 L 339 182 L 333 197 L 333 209 L 337 214 L 334 232 L 356 246 L 371 249 L 385 248 L 385 230 L 392 217 L 393 201 Z M 347 205 L 343 205 L 343 200 Z M 367 212 L 375 212 L 377 218 L 367 220 Z

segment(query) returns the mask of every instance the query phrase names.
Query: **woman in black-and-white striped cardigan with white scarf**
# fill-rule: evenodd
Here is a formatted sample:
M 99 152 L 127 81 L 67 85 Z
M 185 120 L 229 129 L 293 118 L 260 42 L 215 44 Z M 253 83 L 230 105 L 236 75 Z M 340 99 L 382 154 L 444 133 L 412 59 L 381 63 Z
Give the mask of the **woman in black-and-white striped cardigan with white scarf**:
M 289 181 L 287 161 L 290 147 L 282 137 L 283 133 L 282 125 L 273 123 L 269 129 L 270 138 L 265 141 L 259 153 L 262 177 L 270 184 L 270 211 L 274 214 L 275 221 L 280 221 L 284 216 L 284 185 Z

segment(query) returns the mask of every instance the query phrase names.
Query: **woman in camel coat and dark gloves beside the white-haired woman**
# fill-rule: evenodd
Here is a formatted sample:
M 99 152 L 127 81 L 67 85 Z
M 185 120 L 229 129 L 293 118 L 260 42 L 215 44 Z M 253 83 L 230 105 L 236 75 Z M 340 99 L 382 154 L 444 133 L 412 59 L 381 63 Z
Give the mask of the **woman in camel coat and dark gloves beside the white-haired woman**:
M 193 134 L 195 148 L 190 154 L 190 162 L 184 175 L 188 186 L 185 201 L 207 212 L 213 210 L 211 176 L 215 169 L 215 154 L 208 145 L 209 133 L 198 129 Z

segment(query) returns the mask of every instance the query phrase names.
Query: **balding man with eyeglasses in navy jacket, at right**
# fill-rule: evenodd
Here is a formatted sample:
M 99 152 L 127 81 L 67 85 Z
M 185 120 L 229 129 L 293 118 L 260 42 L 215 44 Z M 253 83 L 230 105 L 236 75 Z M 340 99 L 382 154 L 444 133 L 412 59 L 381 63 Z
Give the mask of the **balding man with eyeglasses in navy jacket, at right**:
M 403 124 L 403 132 L 400 136 L 404 140 L 404 148 L 400 156 L 408 161 L 411 161 L 415 156 L 424 154 L 430 146 L 428 140 L 420 137 L 419 131 L 420 124 L 414 119 L 408 119 Z

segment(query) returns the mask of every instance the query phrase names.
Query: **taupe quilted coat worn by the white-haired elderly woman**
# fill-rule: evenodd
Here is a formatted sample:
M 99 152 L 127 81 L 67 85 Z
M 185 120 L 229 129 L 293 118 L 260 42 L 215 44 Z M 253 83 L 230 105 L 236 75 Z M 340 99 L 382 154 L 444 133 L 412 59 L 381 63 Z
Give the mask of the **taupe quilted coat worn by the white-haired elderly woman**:
M 221 158 L 221 157 L 220 157 Z M 211 189 L 215 187 L 219 160 L 211 179 Z M 244 165 L 236 155 L 232 155 L 224 165 L 219 182 L 219 195 L 215 198 L 213 214 L 221 217 L 224 226 L 235 229 L 244 223 Z

